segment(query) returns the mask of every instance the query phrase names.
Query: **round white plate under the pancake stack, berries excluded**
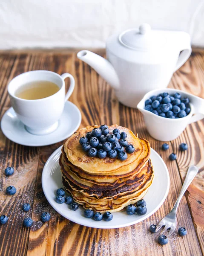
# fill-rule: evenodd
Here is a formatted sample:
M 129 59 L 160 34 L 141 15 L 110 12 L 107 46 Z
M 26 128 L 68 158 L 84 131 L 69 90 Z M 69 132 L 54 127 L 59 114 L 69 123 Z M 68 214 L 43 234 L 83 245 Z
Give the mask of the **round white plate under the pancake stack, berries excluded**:
M 152 165 L 154 166 L 155 178 L 149 188 L 149 191 L 144 197 L 144 200 L 147 202 L 147 213 L 139 216 L 136 214 L 127 215 L 125 211 L 113 212 L 113 219 L 109 222 L 103 220 L 94 221 L 93 219 L 85 218 L 83 216 L 83 207 L 80 206 L 79 209 L 74 212 L 69 209 L 67 204 L 57 204 L 55 202 L 56 189 L 63 187 L 60 166 L 58 163 L 60 153 L 61 147 L 49 157 L 44 166 L 42 174 L 43 192 L 49 203 L 57 212 L 70 221 L 83 226 L 96 228 L 118 228 L 136 224 L 155 213 L 164 203 L 169 192 L 170 176 L 167 166 L 157 152 L 151 148 L 150 158 L 152 160 Z

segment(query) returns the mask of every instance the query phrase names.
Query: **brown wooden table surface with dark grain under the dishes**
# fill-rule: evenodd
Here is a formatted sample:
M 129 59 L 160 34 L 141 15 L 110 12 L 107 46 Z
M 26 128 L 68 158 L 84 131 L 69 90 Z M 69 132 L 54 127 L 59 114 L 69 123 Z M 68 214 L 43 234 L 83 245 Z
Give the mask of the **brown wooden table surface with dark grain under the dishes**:
M 104 56 L 104 51 L 99 51 Z M 168 151 L 161 151 L 160 141 L 148 134 L 141 113 L 121 105 L 114 91 L 87 64 L 79 61 L 76 52 L 1 52 L 0 53 L 0 116 L 10 108 L 6 90 L 8 82 L 29 70 L 51 70 L 62 74 L 71 73 L 76 87 L 70 101 L 82 113 L 80 128 L 93 124 L 118 124 L 126 126 L 150 145 L 164 159 L 170 173 L 170 191 L 166 201 L 155 214 L 141 223 L 118 229 L 96 229 L 80 226 L 60 216 L 47 202 L 41 175 L 46 160 L 63 142 L 45 147 L 27 147 L 13 143 L 0 131 L 0 215 L 9 221 L 0 225 L 0 255 L 191 255 L 204 254 L 204 120 L 189 125 L 176 139 L 169 143 Z M 69 79 L 67 79 L 69 80 Z M 66 87 L 68 87 L 66 81 Z M 174 73 L 169 87 L 181 89 L 204 98 L 204 52 L 193 52 L 190 59 Z M 178 151 L 181 143 L 189 145 L 188 151 Z M 170 162 L 170 153 L 177 160 Z M 182 182 L 190 165 L 197 165 L 199 173 L 183 196 L 178 208 L 178 227 L 187 228 L 187 236 L 178 237 L 175 232 L 167 245 L 156 243 L 158 235 L 150 234 L 150 224 L 156 224 L 166 215 L 180 192 Z M 14 175 L 6 177 L 4 169 L 13 166 Z M 9 185 L 17 188 L 13 196 L 6 196 Z M 22 204 L 29 202 L 31 210 L 25 213 Z M 148 206 L 147 206 L 148 207 Z M 43 211 L 51 213 L 48 223 L 40 221 Z M 23 227 L 25 216 L 32 217 L 31 228 Z

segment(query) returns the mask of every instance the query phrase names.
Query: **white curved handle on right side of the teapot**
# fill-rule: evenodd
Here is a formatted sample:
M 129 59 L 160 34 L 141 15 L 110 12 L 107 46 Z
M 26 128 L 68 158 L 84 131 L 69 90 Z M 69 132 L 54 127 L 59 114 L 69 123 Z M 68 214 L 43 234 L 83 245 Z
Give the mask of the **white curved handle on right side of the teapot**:
M 175 70 L 178 70 L 190 57 L 190 54 L 192 52 L 191 46 L 190 46 L 190 35 L 186 32 L 179 32 L 178 38 L 180 47 L 180 55 L 178 57 L 178 61 L 175 66 Z

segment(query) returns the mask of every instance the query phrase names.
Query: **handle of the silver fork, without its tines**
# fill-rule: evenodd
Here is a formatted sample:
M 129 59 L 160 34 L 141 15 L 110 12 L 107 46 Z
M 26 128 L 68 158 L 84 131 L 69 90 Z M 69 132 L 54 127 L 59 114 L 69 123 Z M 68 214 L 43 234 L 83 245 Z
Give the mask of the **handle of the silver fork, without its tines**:
M 194 179 L 194 177 L 197 173 L 198 173 L 198 168 L 196 166 L 190 166 L 189 167 L 189 169 L 187 171 L 187 175 L 186 175 L 185 180 L 184 180 L 184 184 L 181 188 L 181 192 L 178 195 L 178 199 L 176 200 L 172 211 L 175 211 L 175 212 L 177 211 L 177 208 L 178 208 L 178 205 L 181 201 L 181 198 L 183 197 L 183 195 L 186 192 L 188 186 L 190 185 L 190 183 L 192 182 L 192 180 Z

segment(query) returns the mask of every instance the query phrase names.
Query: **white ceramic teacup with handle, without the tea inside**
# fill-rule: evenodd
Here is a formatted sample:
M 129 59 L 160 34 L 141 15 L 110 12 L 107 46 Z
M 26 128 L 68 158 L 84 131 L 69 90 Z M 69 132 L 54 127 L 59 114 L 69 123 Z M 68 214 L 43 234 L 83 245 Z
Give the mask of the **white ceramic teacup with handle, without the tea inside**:
M 69 77 L 70 87 L 65 94 L 64 79 Z M 57 93 L 43 99 L 20 99 L 15 96 L 16 90 L 23 84 L 33 81 L 51 81 L 60 88 Z M 64 104 L 71 96 L 75 87 L 75 79 L 69 73 L 58 75 L 47 70 L 36 70 L 16 76 L 9 82 L 8 92 L 11 105 L 17 117 L 26 125 L 26 130 L 32 134 L 49 134 L 58 126 L 58 120 L 62 115 Z

